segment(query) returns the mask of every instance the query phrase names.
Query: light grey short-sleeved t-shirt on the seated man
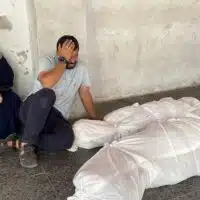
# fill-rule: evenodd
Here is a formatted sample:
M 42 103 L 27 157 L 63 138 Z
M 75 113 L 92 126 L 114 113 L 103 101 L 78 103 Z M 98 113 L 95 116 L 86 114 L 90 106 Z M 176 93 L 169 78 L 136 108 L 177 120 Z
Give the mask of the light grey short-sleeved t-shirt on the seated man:
M 39 71 L 51 70 L 58 63 L 58 57 L 44 57 L 39 61 Z M 52 88 L 56 94 L 56 102 L 54 107 L 58 109 L 64 118 L 68 119 L 75 100 L 76 94 L 80 86 L 90 86 L 90 79 L 87 68 L 77 63 L 74 69 L 65 70 L 61 79 Z M 36 80 L 32 93 L 42 89 L 43 86 L 40 81 Z

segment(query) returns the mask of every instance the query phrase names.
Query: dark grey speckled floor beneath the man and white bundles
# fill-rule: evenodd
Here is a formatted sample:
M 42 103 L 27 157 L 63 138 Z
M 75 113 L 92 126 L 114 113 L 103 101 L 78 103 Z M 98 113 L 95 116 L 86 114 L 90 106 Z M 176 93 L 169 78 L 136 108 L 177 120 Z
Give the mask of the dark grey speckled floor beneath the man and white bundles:
M 141 97 L 133 97 L 97 105 L 102 115 L 134 102 L 144 103 L 166 96 L 193 96 L 200 99 L 200 87 L 185 88 Z M 36 169 L 19 166 L 16 152 L 0 155 L 0 200 L 64 200 L 73 194 L 72 179 L 80 166 L 97 152 L 79 150 L 42 154 Z M 147 190 L 143 200 L 197 200 L 200 198 L 200 178 L 193 177 L 174 186 Z M 103 200 L 103 199 L 102 199 Z

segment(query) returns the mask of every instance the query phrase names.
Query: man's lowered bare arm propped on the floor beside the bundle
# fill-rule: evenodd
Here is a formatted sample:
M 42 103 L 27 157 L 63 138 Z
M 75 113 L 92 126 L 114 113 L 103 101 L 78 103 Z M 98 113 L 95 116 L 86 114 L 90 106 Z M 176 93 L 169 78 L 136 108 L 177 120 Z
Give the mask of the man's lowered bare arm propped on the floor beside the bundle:
M 90 92 L 90 87 L 81 86 L 79 88 L 79 95 L 80 95 L 83 106 L 84 106 L 85 110 L 87 111 L 89 117 L 91 119 L 97 119 L 92 94 Z

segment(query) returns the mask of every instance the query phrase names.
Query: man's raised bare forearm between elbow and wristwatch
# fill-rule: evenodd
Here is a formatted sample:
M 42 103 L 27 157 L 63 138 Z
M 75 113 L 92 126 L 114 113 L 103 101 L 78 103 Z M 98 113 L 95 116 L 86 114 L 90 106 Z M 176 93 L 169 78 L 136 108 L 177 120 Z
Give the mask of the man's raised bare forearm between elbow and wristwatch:
M 66 64 L 57 64 L 48 72 L 41 72 L 39 74 L 39 81 L 45 88 L 52 88 L 61 78 L 66 69 Z

